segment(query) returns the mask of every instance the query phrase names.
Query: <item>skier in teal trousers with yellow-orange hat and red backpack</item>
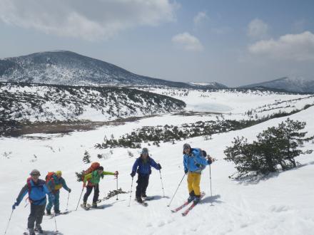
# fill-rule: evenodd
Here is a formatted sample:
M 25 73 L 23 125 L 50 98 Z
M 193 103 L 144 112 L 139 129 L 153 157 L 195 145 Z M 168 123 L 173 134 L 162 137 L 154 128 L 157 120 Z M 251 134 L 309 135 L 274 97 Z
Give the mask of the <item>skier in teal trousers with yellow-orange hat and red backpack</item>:
M 46 212 L 47 214 L 51 214 L 51 208 L 54 206 L 54 213 L 59 214 L 60 209 L 59 209 L 59 198 L 60 198 L 60 189 L 63 187 L 68 191 L 69 193 L 71 192 L 71 189 L 66 185 L 66 181 L 62 177 L 62 172 L 56 171 L 56 172 L 49 172 L 46 175 L 46 184 L 50 191 L 54 194 L 54 197 L 48 197 L 48 204 L 46 207 Z

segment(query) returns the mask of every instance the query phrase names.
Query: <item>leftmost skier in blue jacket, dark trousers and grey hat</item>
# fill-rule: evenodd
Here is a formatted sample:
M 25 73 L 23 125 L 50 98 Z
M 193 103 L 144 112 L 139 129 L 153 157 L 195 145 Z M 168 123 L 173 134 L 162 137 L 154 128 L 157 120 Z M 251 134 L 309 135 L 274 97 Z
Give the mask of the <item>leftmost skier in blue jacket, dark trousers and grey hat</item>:
M 24 196 L 29 193 L 29 202 L 31 204 L 31 214 L 29 214 L 29 220 L 27 228 L 29 229 L 30 235 L 35 235 L 34 224 L 36 222 L 36 229 L 40 234 L 43 233 L 41 229 L 41 221 L 43 220 L 44 211 L 46 207 L 46 194 L 49 194 L 50 197 L 54 197 L 48 187 L 46 187 L 46 182 L 42 179 L 39 179 L 41 175 L 39 170 L 33 169 L 31 171 L 31 177 L 27 179 L 26 184 L 21 189 L 19 196 L 16 199 L 16 202 L 13 204 L 12 209 L 15 209 L 21 203 Z

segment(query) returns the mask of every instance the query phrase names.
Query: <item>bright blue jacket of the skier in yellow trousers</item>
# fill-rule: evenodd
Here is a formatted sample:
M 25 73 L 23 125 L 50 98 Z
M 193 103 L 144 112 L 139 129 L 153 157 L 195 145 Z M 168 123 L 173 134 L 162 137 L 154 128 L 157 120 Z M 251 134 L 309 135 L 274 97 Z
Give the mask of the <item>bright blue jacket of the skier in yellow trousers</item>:
M 202 156 L 200 149 L 191 149 L 190 155 L 183 155 L 184 171 L 201 173 L 206 165 L 209 165 L 206 158 Z

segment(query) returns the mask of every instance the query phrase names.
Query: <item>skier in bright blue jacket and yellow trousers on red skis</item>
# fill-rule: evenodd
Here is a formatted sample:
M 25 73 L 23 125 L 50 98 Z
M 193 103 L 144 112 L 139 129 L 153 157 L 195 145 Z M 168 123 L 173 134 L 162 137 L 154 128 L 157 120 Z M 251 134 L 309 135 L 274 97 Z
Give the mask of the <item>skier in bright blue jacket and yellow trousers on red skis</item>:
M 198 148 L 191 148 L 189 144 L 183 145 L 184 172 L 188 173 L 188 202 L 197 204 L 201 199 L 201 174 L 207 165 L 213 162 L 211 157 L 206 160 L 206 152 Z

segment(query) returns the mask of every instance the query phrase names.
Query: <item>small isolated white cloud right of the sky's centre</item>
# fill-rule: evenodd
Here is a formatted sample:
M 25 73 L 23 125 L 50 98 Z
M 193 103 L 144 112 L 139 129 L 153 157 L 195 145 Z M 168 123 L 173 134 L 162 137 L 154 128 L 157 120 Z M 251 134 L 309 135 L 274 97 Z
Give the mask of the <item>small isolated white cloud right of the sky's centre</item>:
M 171 41 L 186 51 L 203 51 L 202 43 L 188 32 L 173 36 Z

